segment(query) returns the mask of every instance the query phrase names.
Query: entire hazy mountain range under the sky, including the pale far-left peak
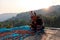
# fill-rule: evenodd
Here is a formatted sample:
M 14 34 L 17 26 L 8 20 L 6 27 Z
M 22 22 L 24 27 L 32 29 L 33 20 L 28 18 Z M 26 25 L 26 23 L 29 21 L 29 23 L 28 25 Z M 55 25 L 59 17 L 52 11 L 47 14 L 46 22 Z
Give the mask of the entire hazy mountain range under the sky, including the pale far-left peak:
M 60 16 L 60 5 L 51 6 L 47 11 L 45 9 L 39 9 L 39 10 L 35 10 L 35 12 L 37 13 L 37 15 L 42 14 L 44 16 Z M 15 17 L 13 17 L 13 16 L 15 16 Z M 11 13 L 11 14 L 2 14 L 0 16 L 0 21 L 6 20 L 6 19 L 29 21 L 30 14 L 29 14 L 29 12 L 22 12 L 17 15 Z

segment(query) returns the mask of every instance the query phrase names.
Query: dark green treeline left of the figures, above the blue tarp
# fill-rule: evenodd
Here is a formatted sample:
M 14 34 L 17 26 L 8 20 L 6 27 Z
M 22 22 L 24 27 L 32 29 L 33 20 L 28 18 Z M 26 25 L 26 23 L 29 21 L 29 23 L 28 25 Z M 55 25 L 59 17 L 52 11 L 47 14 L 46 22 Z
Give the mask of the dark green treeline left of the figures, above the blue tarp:
M 0 22 L 0 28 L 19 27 L 19 26 L 27 25 L 27 24 L 28 24 L 28 22 L 23 19 L 21 19 L 21 20 L 7 20 L 4 22 Z

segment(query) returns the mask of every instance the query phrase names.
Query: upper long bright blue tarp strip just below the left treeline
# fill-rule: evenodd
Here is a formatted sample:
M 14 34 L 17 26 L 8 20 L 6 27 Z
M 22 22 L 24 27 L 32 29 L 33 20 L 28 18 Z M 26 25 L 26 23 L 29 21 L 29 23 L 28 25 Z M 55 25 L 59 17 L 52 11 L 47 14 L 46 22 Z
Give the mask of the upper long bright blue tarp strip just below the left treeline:
M 0 33 L 10 32 L 13 30 L 29 30 L 30 31 L 31 29 L 30 29 L 30 26 L 28 26 L 28 25 L 20 26 L 20 27 L 13 27 L 13 28 L 0 28 Z

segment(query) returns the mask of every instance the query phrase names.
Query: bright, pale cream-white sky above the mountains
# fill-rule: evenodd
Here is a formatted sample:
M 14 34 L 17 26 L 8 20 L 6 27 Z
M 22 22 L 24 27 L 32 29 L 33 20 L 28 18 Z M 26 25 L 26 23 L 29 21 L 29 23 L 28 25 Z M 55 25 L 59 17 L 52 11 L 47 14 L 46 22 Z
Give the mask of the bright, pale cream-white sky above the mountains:
M 60 5 L 60 0 L 0 0 L 0 14 L 20 13 Z

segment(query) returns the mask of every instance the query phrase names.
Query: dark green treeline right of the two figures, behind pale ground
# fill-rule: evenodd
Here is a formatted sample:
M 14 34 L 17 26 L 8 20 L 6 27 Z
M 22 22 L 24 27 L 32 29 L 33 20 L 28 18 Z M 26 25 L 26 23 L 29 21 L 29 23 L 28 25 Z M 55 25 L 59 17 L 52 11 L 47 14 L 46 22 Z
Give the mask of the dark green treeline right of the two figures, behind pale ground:
M 43 20 L 47 27 L 60 28 L 60 16 L 44 16 Z

